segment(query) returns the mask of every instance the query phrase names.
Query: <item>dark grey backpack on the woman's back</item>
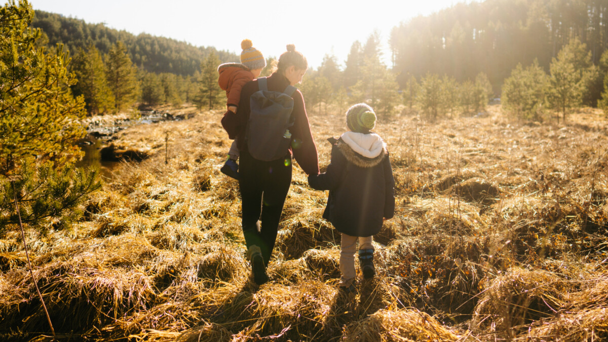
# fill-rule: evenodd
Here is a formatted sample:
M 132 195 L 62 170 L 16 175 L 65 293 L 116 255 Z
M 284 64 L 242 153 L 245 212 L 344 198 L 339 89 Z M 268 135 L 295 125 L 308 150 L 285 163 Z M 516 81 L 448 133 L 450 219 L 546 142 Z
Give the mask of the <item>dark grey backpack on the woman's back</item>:
M 294 99 L 291 94 L 295 87 L 288 85 L 285 91 L 269 91 L 266 77 L 258 79 L 260 90 L 250 97 L 250 114 L 245 139 L 249 153 L 255 159 L 272 161 L 289 153 L 291 133 L 289 128 L 295 119 Z

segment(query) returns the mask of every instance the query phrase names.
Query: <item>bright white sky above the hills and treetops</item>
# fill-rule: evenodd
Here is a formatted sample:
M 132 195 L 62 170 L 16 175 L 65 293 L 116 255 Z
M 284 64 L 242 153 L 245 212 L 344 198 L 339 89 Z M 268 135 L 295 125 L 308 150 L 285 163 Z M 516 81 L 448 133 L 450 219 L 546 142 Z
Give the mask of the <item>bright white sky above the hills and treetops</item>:
M 292 43 L 313 68 L 325 54 L 336 55 L 344 65 L 354 41 L 365 43 L 374 30 L 388 58 L 392 27 L 458 2 L 471 0 L 30 0 L 35 10 L 237 54 L 244 38 L 264 57 L 278 57 Z

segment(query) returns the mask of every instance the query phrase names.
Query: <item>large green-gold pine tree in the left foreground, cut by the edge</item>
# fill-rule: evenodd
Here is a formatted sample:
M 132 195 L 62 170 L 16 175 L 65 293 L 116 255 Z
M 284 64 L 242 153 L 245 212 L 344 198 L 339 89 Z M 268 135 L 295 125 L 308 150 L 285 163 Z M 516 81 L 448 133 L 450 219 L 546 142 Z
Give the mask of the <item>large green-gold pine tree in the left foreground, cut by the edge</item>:
M 100 186 L 97 173 L 71 167 L 81 156 L 85 102 L 72 96 L 63 47 L 46 54 L 32 17 L 26 0 L 0 7 L 0 233 L 18 223 L 15 198 L 23 222 L 44 231 L 50 219 L 69 225 Z

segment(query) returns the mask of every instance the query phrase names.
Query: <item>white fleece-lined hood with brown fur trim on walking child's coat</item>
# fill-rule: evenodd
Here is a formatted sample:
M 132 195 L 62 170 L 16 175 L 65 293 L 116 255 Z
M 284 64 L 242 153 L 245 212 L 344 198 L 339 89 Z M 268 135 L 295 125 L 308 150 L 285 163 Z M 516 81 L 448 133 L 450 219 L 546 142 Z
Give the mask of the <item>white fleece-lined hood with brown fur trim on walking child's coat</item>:
M 376 133 L 346 132 L 336 142 L 344 157 L 359 167 L 373 167 L 389 154 L 386 144 Z

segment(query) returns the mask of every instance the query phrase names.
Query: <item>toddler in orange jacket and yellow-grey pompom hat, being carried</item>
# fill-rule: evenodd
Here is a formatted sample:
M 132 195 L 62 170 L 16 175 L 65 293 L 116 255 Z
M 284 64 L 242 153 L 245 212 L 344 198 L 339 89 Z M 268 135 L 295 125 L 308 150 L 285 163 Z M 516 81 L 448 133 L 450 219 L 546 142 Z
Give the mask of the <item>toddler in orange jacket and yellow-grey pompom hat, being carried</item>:
M 262 53 L 253 47 L 250 40 L 241 41 L 241 63 L 224 63 L 218 67 L 219 72 L 219 87 L 226 91 L 226 106 L 228 111 L 237 113 L 239 100 L 241 99 L 241 89 L 245 83 L 250 80 L 257 79 L 266 66 L 266 60 Z M 226 111 L 226 114 L 228 113 Z M 224 114 L 224 116 L 226 115 Z M 235 136 L 230 136 L 230 139 L 235 139 L 230 145 L 228 159 L 220 171 L 225 175 L 238 180 L 238 142 Z

